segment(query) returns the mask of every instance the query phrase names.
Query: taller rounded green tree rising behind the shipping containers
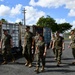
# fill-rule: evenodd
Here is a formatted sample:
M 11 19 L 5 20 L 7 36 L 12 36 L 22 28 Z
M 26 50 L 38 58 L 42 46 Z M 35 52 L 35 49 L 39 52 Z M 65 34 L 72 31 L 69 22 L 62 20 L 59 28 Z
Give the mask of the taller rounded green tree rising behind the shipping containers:
M 55 23 L 55 20 L 49 15 L 47 15 L 47 17 L 40 17 L 36 24 L 37 26 L 41 27 L 49 27 L 52 29 L 53 32 L 55 32 L 58 29 L 57 23 Z

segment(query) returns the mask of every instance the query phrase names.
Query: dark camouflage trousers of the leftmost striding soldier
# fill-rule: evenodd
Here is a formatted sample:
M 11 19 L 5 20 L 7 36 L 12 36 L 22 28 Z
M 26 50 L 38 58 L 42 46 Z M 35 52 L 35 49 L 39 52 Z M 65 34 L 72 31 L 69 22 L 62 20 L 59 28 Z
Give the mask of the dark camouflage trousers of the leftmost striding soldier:
M 14 60 L 14 55 L 11 52 L 11 47 L 5 47 L 3 49 L 3 60 L 7 61 L 7 55 L 10 55 L 12 57 L 12 59 Z

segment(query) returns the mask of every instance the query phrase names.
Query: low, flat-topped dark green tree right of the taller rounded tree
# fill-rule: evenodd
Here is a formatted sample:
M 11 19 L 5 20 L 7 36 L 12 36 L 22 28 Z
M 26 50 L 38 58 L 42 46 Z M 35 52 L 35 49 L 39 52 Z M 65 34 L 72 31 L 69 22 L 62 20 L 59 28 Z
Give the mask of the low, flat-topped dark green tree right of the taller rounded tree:
M 71 29 L 72 25 L 70 25 L 69 23 L 61 23 L 58 24 L 58 30 L 63 33 L 69 29 Z

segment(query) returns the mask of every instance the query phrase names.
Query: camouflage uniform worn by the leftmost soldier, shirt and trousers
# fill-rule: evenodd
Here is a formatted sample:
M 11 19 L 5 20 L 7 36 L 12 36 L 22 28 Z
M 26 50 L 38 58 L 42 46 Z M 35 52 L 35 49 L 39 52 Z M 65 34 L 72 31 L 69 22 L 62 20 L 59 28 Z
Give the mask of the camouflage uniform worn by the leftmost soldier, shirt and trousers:
M 11 52 L 11 44 L 10 40 L 12 39 L 11 35 L 5 35 L 3 39 L 4 48 L 3 48 L 3 60 L 7 61 L 7 54 L 11 55 L 13 60 L 15 59 L 12 52 Z

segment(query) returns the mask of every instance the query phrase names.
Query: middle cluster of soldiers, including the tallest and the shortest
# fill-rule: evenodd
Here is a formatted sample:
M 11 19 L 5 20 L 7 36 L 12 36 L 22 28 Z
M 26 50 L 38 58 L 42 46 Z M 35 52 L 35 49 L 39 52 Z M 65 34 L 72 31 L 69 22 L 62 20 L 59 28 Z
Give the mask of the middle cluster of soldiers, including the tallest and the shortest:
M 25 66 L 32 67 L 32 62 L 34 55 L 36 55 L 36 69 L 35 72 L 39 72 L 40 59 L 42 60 L 41 71 L 44 71 L 45 67 L 45 56 L 47 52 L 47 45 L 44 42 L 43 35 L 36 32 L 36 35 L 33 36 L 33 33 L 30 31 L 30 27 L 26 27 L 24 44 L 23 44 L 23 55 L 26 59 Z

